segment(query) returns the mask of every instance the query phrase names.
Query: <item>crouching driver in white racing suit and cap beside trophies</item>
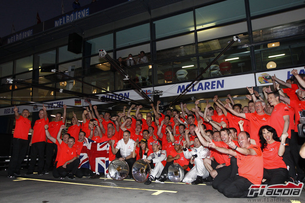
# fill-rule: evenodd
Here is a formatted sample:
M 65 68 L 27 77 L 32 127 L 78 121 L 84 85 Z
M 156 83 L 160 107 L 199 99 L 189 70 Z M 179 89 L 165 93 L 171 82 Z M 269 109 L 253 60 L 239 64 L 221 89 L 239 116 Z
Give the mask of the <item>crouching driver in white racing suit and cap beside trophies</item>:
M 166 159 L 166 151 L 160 150 L 159 141 L 150 142 L 152 145 L 153 153 L 151 153 L 146 159 L 144 159 L 147 163 L 154 163 L 154 165 L 150 164 L 150 167 L 152 168 L 150 176 L 145 181 L 145 185 L 150 185 L 151 181 L 154 180 L 156 177 L 158 178 L 161 175 L 161 172 L 164 168 L 161 161 L 164 161 Z

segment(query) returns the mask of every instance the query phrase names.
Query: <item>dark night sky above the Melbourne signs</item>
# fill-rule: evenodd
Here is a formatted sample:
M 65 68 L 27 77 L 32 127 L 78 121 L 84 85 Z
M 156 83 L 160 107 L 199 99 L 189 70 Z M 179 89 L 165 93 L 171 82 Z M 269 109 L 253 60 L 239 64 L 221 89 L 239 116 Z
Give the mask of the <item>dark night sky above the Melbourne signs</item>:
M 64 11 L 73 10 L 74 0 L 64 0 Z M 92 0 L 79 0 L 81 6 L 91 3 Z M 15 31 L 25 29 L 37 23 L 39 14 L 41 22 L 61 15 L 62 0 L 13 0 L 1 1 L 0 37 L 10 35 L 14 23 Z

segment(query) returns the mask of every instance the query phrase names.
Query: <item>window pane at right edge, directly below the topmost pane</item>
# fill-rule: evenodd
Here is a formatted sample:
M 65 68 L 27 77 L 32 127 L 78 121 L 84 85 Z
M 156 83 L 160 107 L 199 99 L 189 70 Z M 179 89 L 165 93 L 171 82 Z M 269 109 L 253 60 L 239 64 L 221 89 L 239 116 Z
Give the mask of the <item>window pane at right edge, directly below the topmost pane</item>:
M 292 22 L 304 20 L 304 13 L 305 13 L 305 8 L 301 8 L 289 12 L 279 13 L 276 15 L 253 19 L 251 21 L 252 30 L 256 31 L 258 29 L 268 28 L 268 27 L 270 28 L 273 27 L 273 29 L 274 28 L 280 29 L 282 28 L 281 26 L 283 26 L 286 23 L 292 23 Z M 275 32 L 275 31 L 273 31 L 273 33 L 279 34 L 279 32 Z

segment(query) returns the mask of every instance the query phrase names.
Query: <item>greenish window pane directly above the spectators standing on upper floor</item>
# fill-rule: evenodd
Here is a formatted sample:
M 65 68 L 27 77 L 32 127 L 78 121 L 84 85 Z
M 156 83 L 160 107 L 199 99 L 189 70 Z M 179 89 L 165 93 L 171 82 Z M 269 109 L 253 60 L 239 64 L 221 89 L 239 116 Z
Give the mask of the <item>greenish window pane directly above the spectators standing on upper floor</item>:
M 150 41 L 149 23 L 116 32 L 116 47 Z

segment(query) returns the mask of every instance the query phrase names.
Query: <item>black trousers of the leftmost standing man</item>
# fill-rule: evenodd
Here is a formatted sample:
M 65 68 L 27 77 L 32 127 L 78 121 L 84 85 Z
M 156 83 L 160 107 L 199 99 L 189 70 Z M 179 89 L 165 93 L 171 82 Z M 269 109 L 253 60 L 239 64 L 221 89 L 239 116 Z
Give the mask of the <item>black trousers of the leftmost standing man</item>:
M 13 175 L 14 172 L 19 172 L 21 168 L 21 163 L 27 153 L 28 140 L 23 140 L 20 138 L 13 138 L 13 150 L 12 156 L 9 161 L 8 175 Z

